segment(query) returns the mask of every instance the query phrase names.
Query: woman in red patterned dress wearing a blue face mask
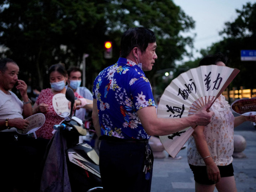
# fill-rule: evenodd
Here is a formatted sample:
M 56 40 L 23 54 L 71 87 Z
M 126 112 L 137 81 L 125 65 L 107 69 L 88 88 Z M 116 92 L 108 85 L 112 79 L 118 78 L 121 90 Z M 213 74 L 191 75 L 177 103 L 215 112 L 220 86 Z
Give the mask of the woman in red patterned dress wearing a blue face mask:
M 48 74 L 50 77 L 51 88 L 47 88 L 41 91 L 38 99 L 36 100 L 33 106 L 33 114 L 43 113 L 45 115 L 44 125 L 36 131 L 36 136 L 38 138 L 50 139 L 52 138 L 53 126 L 59 124 L 64 118 L 60 117 L 52 106 L 52 98 L 58 93 L 66 93 L 66 81 L 67 81 L 67 71 L 62 64 L 52 65 Z M 74 108 L 90 108 L 90 105 L 87 103 L 92 103 L 92 100 L 83 98 L 78 93 L 74 93 L 75 97 L 78 98 L 75 100 Z

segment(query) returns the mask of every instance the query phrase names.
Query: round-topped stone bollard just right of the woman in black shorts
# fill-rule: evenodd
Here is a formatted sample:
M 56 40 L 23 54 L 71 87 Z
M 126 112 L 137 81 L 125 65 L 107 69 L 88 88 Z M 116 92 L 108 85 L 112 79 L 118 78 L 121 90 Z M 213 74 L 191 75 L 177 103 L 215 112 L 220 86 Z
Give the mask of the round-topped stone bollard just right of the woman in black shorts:
M 246 155 L 243 153 L 246 148 L 246 140 L 242 135 L 234 135 L 234 152 L 232 157 L 234 158 L 245 158 Z

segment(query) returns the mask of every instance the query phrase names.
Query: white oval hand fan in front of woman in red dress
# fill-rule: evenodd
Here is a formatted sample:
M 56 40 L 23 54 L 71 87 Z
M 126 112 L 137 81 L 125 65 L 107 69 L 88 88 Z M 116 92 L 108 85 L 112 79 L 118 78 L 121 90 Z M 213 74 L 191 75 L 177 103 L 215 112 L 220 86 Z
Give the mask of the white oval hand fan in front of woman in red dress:
M 54 107 L 54 111 L 62 118 L 65 118 L 70 114 L 68 103 L 69 101 L 64 93 L 58 93 L 52 98 L 52 106 Z

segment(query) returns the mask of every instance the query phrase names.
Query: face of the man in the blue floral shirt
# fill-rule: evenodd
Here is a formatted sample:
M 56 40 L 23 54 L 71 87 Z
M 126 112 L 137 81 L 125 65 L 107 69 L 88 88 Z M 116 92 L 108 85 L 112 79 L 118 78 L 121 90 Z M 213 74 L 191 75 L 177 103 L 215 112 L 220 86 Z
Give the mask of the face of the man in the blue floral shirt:
M 152 67 L 155 63 L 155 59 L 157 59 L 156 55 L 156 42 L 149 43 L 147 49 L 144 53 L 141 54 L 139 52 L 139 62 L 142 63 L 142 70 L 143 71 L 151 71 Z

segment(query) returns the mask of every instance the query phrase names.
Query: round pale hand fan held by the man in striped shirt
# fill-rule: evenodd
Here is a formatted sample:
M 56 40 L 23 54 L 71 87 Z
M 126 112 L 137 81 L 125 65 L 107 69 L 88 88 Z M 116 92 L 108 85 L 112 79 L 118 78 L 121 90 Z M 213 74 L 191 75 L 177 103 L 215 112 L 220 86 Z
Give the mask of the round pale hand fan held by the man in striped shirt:
M 26 118 L 26 120 L 29 121 L 28 127 L 24 130 L 16 129 L 17 133 L 19 134 L 35 133 L 35 131 L 38 130 L 40 127 L 42 127 L 43 124 L 45 123 L 45 115 L 42 113 L 37 113 L 29 116 L 28 118 Z

